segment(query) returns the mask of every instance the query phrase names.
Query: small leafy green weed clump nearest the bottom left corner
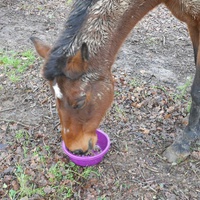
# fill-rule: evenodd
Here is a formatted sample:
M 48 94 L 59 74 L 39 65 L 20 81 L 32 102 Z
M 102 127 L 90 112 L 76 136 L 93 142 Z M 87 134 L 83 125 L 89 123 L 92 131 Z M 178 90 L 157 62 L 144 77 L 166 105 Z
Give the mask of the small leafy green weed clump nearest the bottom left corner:
M 31 197 L 34 194 L 38 194 L 41 196 L 45 195 L 43 188 L 37 188 L 35 184 L 33 184 L 33 177 L 24 173 L 24 170 L 20 164 L 16 165 L 15 175 L 17 177 L 17 181 L 19 183 L 19 190 L 14 191 L 13 189 L 9 190 L 9 197 L 11 199 L 15 199 L 22 197 Z

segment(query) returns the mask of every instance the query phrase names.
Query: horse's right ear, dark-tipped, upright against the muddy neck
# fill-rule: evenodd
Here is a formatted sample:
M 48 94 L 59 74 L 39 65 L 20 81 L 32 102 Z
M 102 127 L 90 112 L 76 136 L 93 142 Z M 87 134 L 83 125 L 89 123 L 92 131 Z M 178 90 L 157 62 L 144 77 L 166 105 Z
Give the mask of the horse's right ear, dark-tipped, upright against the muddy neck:
M 86 43 L 83 43 L 80 50 L 72 57 L 68 58 L 67 66 L 64 69 L 66 76 L 77 79 L 88 68 L 89 52 Z

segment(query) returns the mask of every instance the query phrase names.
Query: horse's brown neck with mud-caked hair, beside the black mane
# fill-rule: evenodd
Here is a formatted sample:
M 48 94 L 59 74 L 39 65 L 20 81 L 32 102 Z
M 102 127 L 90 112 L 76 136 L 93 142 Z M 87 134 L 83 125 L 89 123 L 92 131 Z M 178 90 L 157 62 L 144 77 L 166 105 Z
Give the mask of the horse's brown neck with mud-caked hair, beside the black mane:
M 104 1 L 104 0 L 103 0 Z M 97 17 L 94 18 L 91 12 L 84 29 L 84 35 L 81 40 L 88 39 L 92 58 L 99 62 L 104 62 L 105 67 L 110 68 L 113 64 L 116 54 L 123 44 L 124 40 L 150 10 L 162 3 L 164 0 L 123 0 L 123 1 L 104 1 L 104 4 L 93 7 L 96 10 Z M 102 1 L 99 1 L 102 2 Z M 107 3 L 107 5 L 106 5 Z M 101 12 L 100 12 L 101 11 Z M 109 19 L 106 19 L 110 16 Z M 102 20 L 102 21 L 98 21 Z M 92 23 L 91 23 L 92 22 Z M 90 27 L 91 25 L 91 27 Z M 93 35 L 90 36 L 91 29 Z M 96 35 L 95 35 L 96 34 Z

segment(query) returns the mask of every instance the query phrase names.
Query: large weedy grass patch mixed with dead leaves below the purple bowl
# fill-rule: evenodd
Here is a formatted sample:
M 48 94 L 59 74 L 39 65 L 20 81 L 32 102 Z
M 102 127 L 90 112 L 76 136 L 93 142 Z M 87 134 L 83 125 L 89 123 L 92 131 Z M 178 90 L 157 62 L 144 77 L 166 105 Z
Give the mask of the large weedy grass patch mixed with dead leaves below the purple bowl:
M 28 159 L 28 161 L 25 163 L 21 161 L 15 165 L 13 175 L 16 177 L 17 189 L 7 184 L 3 185 L 11 200 L 31 198 L 35 195 L 48 199 L 68 199 L 76 192 L 74 191 L 76 185 L 83 185 L 91 175 L 100 176 L 95 167 L 83 168 L 61 160 L 54 162 L 51 146 L 36 146 L 32 136 L 24 129 L 16 130 L 14 139 L 15 144 L 21 147 L 21 153 L 18 149 L 20 160 Z M 46 186 L 36 184 L 35 179 L 40 177 L 46 180 Z

